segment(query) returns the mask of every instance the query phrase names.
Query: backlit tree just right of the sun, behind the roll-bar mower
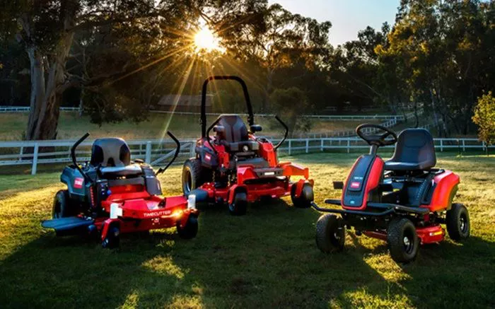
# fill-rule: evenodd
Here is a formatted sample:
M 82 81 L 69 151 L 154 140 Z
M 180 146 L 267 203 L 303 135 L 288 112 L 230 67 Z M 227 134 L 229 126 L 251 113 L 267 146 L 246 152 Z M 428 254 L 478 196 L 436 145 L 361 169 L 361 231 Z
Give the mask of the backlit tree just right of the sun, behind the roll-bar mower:
M 266 111 L 277 70 L 301 63 L 308 69 L 322 65 L 330 51 L 328 31 L 332 24 L 293 14 L 279 4 L 267 6 L 266 1 L 248 2 L 248 6 L 241 6 L 238 13 L 210 19 L 234 59 L 255 61 L 264 69 L 262 110 Z

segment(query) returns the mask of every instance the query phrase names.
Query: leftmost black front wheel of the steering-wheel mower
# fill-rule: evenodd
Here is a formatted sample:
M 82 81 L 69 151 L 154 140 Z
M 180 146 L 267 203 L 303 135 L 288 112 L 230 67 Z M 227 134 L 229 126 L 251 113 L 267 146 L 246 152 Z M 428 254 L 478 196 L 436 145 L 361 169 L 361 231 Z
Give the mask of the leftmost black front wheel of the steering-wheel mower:
M 322 252 L 344 250 L 346 229 L 342 218 L 334 214 L 324 214 L 316 222 L 316 245 Z

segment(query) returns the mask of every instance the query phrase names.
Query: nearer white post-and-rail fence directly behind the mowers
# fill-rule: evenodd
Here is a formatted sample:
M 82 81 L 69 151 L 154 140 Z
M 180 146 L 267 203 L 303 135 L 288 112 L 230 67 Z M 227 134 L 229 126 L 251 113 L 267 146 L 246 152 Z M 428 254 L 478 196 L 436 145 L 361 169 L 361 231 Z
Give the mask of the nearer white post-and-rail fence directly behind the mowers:
M 279 140 L 274 139 L 277 143 Z M 467 149 L 485 150 L 484 143 L 477 139 L 434 139 L 439 151 Z M 31 174 L 35 175 L 38 164 L 69 163 L 70 148 L 74 140 L 56 141 L 2 141 L 0 142 L 1 165 L 31 165 Z M 91 156 L 92 141 L 85 141 L 78 148 L 79 161 L 88 161 Z M 131 148 L 132 158 L 140 158 L 146 163 L 154 165 L 166 161 L 170 153 L 175 150 L 175 144 L 170 140 L 134 140 L 127 141 Z M 177 163 L 194 156 L 194 140 L 181 141 L 181 151 Z M 366 149 L 369 146 L 357 137 L 330 137 L 320 139 L 287 139 L 279 148 L 281 156 L 295 153 L 313 153 L 318 151 L 347 151 Z M 388 146 L 385 148 L 393 148 Z M 489 146 L 495 148 L 495 146 Z

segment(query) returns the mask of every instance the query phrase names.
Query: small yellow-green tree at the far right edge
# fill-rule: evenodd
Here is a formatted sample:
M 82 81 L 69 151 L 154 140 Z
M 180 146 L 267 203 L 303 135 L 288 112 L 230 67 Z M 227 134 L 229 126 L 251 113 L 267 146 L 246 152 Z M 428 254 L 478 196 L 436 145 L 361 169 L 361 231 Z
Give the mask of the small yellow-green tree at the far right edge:
M 491 91 L 478 99 L 472 121 L 478 126 L 478 137 L 484 141 L 488 156 L 488 147 L 495 142 L 495 98 Z

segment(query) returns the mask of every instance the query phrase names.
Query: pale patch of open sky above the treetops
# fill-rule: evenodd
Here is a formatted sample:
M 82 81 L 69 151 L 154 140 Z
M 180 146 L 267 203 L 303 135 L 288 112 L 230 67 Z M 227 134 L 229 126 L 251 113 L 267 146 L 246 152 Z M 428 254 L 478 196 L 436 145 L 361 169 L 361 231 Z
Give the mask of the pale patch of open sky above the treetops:
M 395 13 L 400 0 L 268 0 L 278 3 L 293 13 L 315 18 L 317 21 L 330 21 L 330 43 L 337 46 L 355 40 L 359 30 L 371 25 L 380 29 L 388 21 L 395 21 Z

